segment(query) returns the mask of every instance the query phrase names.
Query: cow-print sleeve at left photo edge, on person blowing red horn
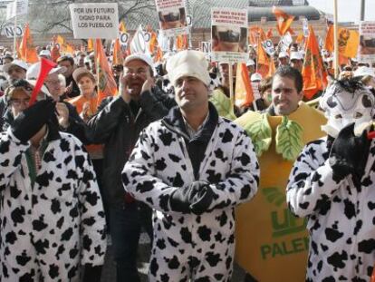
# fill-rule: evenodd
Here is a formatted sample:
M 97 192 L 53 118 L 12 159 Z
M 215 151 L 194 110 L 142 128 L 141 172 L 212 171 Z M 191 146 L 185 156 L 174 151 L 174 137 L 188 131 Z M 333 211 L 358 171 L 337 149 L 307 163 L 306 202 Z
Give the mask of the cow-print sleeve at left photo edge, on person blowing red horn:
M 29 143 L 22 143 L 14 137 L 10 128 L 0 133 L 0 192 L 7 187 L 14 170 L 21 164 L 22 154 Z

